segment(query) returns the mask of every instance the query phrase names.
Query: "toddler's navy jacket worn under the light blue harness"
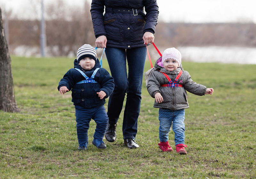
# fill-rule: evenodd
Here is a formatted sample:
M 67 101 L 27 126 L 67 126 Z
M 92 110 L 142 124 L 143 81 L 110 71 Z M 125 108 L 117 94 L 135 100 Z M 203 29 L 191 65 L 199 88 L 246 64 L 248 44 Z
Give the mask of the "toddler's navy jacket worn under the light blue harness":
M 72 102 L 74 105 L 79 105 L 85 108 L 92 108 L 100 105 L 104 105 L 105 98 L 114 90 L 114 79 L 108 71 L 104 68 L 100 68 L 95 74 L 94 80 L 98 83 L 82 83 L 76 84 L 82 80 L 85 80 L 84 76 L 75 68 L 82 70 L 89 78 L 96 68 L 100 68 L 100 61 L 97 59 L 95 66 L 91 70 L 84 70 L 78 65 L 77 60 L 74 60 L 74 68 L 68 70 L 59 82 L 58 90 L 61 86 L 66 86 L 68 90 L 72 91 Z M 100 99 L 97 92 L 104 91 L 107 96 Z

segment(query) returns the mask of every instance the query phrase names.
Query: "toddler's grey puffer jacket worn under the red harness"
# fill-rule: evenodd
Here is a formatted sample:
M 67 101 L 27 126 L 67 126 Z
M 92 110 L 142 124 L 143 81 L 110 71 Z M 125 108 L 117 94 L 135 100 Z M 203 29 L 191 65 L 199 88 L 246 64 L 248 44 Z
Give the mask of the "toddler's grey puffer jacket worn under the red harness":
M 160 60 L 162 60 L 162 58 L 160 58 Z M 189 73 L 184 71 L 181 66 L 170 72 L 157 65 L 158 62 L 159 59 L 156 61 L 156 69 L 151 72 L 147 84 L 148 93 L 151 97 L 155 98 L 156 92 L 159 92 L 163 96 L 164 101 L 162 103 L 157 103 L 155 101 L 155 108 L 167 108 L 170 110 L 189 108 L 186 90 L 198 96 L 204 95 L 206 87 L 193 82 Z M 169 81 L 159 70 L 167 74 L 173 82 L 180 73 L 180 70 L 182 70 L 183 73 L 177 83 L 183 85 L 183 87 L 161 87 L 162 84 L 168 84 Z

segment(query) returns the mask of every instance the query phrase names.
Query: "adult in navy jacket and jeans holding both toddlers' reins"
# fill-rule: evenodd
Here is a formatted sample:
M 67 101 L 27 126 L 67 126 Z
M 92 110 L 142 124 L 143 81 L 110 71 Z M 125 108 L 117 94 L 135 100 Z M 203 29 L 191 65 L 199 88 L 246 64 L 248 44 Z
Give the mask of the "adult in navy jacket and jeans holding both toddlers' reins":
M 116 123 L 127 93 L 123 119 L 124 144 L 128 148 L 139 147 L 135 137 L 147 54 L 145 45 L 154 42 L 158 13 L 156 0 L 92 0 L 95 45 L 106 48 L 115 82 L 114 92 L 108 100 L 109 122 L 105 133 L 108 142 L 116 140 Z

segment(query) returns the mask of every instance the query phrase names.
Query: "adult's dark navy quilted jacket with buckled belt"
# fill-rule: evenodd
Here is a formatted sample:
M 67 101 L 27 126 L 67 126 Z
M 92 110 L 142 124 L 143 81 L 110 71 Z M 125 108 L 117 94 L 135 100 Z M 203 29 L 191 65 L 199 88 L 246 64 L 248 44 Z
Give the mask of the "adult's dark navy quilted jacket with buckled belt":
M 95 37 L 105 35 L 107 47 L 143 47 L 144 33 L 155 33 L 158 13 L 156 0 L 92 0 Z

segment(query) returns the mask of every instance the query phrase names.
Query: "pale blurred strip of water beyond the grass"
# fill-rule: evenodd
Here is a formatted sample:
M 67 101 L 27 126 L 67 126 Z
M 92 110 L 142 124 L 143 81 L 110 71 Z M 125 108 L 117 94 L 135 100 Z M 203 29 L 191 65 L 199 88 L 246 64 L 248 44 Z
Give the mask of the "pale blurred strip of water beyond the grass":
M 168 47 L 167 47 L 168 48 Z M 169 47 L 170 48 L 170 47 Z M 152 60 L 159 58 L 153 45 L 148 47 Z M 208 46 L 208 47 L 177 47 L 180 51 L 182 60 L 193 62 L 218 62 L 218 63 L 239 63 L 239 64 L 256 64 L 256 48 L 250 47 L 230 47 L 230 46 Z M 161 53 L 165 48 L 159 48 Z M 102 54 L 103 49 L 97 50 Z M 47 52 L 47 51 L 46 51 Z M 55 54 L 58 52 L 56 51 Z M 40 49 L 36 47 L 20 46 L 14 50 L 12 55 L 17 56 L 35 56 L 40 57 Z M 52 55 L 46 53 L 46 56 Z M 68 57 L 76 58 L 76 54 L 70 53 Z M 106 58 L 105 54 L 103 58 Z M 148 60 L 148 57 L 146 58 Z

